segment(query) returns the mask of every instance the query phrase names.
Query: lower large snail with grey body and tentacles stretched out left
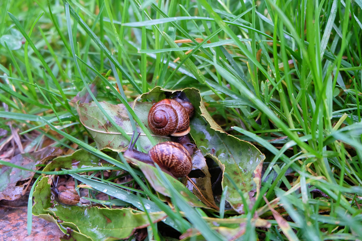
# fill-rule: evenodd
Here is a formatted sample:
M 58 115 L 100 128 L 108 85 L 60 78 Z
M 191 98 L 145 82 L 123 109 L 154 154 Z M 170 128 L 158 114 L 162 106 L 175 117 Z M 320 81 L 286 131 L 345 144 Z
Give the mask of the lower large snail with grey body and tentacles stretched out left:
M 150 165 L 157 163 L 162 171 L 172 174 L 172 176 L 176 178 L 185 177 L 191 172 L 191 154 L 194 152 L 194 144 L 180 144 L 177 142 L 165 141 L 156 144 L 156 146 L 154 146 L 147 154 L 134 150 L 134 145 L 140 135 L 138 134 L 133 141 L 134 134 L 135 132 L 133 132 L 128 149 L 124 153 L 125 157 L 130 157 Z

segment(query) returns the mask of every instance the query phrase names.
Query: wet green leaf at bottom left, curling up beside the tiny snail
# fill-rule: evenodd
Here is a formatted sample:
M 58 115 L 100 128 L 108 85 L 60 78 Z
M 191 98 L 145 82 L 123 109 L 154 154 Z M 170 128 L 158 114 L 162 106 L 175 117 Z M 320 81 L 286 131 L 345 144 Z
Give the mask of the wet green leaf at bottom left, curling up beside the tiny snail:
M 132 235 L 136 229 L 149 226 L 145 212 L 130 208 L 109 209 L 62 204 L 52 206 L 48 180 L 44 177 L 35 188 L 33 213 L 40 218 L 61 224 L 59 228 L 64 233 L 69 233 L 67 228 L 73 229 L 74 231 L 70 231 L 71 235 L 74 234 L 73 238 L 79 236 L 84 238 L 79 240 L 123 239 Z M 150 212 L 149 215 L 152 222 L 166 218 L 164 212 Z

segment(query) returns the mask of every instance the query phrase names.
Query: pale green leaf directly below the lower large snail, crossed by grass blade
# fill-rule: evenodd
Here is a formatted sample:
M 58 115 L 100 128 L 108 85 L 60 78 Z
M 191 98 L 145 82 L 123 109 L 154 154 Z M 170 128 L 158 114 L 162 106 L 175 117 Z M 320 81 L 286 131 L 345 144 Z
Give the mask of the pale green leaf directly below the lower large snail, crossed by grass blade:
M 149 164 L 143 163 L 141 161 L 133 160 L 136 163 L 144 176 L 150 182 L 151 186 L 161 194 L 167 197 L 171 197 L 171 191 L 166 188 L 164 185 L 161 176 L 157 172 L 156 167 L 151 166 Z M 187 189 L 181 182 L 177 179 L 171 177 L 170 175 L 164 173 L 167 179 L 171 182 L 174 188 L 182 195 L 185 201 L 193 207 L 204 207 L 207 208 L 202 202 L 198 200 L 198 198 Z

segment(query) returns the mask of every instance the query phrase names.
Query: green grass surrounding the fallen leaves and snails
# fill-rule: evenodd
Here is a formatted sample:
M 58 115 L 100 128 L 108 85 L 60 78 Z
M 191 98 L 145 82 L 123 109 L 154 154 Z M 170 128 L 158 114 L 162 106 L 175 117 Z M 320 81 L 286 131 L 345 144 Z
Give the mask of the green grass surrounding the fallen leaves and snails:
M 65 149 L 78 144 L 129 171 L 144 191 L 135 198 L 150 198 L 181 233 L 195 228 L 223 240 L 202 216 L 236 215 L 224 209 L 225 193 L 220 213 L 212 213 L 189 206 L 164 179 L 184 219 L 139 171 L 94 148 L 70 103 L 98 77 L 92 100 L 120 100 L 133 128 L 155 144 L 127 102 L 155 86 L 195 87 L 226 132 L 267 157 L 260 190 L 267 200 L 260 196 L 244 217 L 271 217 L 272 225 L 248 222 L 243 240 L 362 239 L 361 8 L 360 0 L 3 0 L 0 37 L 14 41 L 0 44 L 0 128 L 10 119 L 33 141 L 26 150 L 41 149 L 46 138 Z M 21 35 L 26 43 L 16 49 Z M 164 240 L 157 225 L 150 230 Z

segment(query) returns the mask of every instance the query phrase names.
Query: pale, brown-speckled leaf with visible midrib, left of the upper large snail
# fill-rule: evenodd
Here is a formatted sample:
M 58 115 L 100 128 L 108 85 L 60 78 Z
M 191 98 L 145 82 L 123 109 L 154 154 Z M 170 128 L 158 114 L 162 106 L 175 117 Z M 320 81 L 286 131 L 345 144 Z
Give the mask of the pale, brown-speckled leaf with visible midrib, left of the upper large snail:
M 111 105 L 107 102 L 100 102 L 104 110 L 111 116 L 114 122 L 119 125 L 128 135 L 132 135 L 132 126 L 123 104 Z M 130 106 L 140 118 L 141 122 L 148 127 L 147 116 L 153 103 L 130 102 Z M 84 103 L 77 106 L 77 111 L 82 124 L 89 130 L 94 138 L 98 149 L 109 148 L 114 151 L 124 150 L 129 141 L 108 121 L 102 111 L 95 103 Z M 137 132 L 142 133 L 139 137 L 141 147 L 148 151 L 153 145 L 141 128 L 136 124 Z M 170 140 L 167 137 L 154 135 L 157 143 Z

